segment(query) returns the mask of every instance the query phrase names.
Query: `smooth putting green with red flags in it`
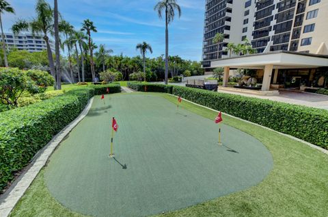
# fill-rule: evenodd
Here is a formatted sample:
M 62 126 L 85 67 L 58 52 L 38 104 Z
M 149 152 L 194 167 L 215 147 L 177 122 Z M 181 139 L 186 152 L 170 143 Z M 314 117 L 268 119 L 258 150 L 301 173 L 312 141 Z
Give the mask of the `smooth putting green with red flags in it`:
M 46 167 L 49 191 L 74 212 L 149 216 L 182 209 L 255 186 L 273 168 L 256 138 L 223 125 L 219 146 L 215 117 L 177 110 L 161 94 L 105 100 L 94 100 Z M 113 116 L 115 159 L 108 156 Z

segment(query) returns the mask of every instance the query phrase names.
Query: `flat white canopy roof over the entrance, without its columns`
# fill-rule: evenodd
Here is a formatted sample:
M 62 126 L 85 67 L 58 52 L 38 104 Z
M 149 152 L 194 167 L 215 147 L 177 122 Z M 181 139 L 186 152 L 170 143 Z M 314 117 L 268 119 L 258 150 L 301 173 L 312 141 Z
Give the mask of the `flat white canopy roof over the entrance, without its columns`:
M 273 51 L 256 53 L 211 62 L 211 68 L 229 66 L 230 68 L 258 68 L 266 65 L 273 68 L 319 68 L 328 67 L 328 55 L 299 53 L 292 51 Z

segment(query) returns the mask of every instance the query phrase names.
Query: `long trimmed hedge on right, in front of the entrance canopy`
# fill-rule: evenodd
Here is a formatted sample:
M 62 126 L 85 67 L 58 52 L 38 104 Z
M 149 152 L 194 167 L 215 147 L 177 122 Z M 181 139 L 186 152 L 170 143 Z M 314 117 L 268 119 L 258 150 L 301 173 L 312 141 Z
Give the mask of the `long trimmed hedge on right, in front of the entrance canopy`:
M 173 94 L 328 149 L 328 111 L 175 86 Z

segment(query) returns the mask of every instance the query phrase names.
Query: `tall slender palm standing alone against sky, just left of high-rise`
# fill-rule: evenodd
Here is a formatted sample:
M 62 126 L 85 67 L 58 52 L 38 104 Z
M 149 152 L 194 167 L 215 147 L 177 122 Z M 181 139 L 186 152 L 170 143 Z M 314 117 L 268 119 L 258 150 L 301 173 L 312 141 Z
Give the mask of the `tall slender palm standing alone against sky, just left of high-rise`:
M 165 12 L 165 84 L 167 84 L 169 77 L 169 24 L 174 21 L 176 10 L 179 17 L 181 16 L 181 8 L 176 0 L 161 0 L 155 5 L 154 10 L 158 13 L 159 18 L 162 18 L 162 14 Z

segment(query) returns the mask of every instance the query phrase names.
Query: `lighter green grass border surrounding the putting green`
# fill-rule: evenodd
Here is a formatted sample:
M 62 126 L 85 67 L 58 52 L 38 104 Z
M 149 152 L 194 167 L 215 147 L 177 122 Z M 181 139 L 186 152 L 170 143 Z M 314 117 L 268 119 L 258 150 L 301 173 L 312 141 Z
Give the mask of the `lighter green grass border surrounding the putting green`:
M 168 94 L 146 95 L 163 97 L 172 103 L 176 103 L 176 97 Z M 213 122 L 217 115 L 216 112 L 187 102 L 183 102 L 181 107 L 186 110 L 184 111 L 186 113 L 182 114 L 192 116 L 188 113 L 192 112 L 203 116 L 204 119 L 208 118 L 210 122 Z M 92 116 L 97 118 L 98 112 L 101 111 L 95 110 L 89 118 L 92 118 Z M 146 114 L 140 113 L 139 115 L 145 117 Z M 122 119 L 120 118 L 120 120 Z M 211 199 L 198 205 L 167 212 L 160 216 L 327 216 L 327 155 L 305 144 L 280 136 L 278 133 L 245 123 L 236 118 L 223 116 L 223 120 L 226 125 L 241 129 L 241 131 L 254 136 L 262 142 L 273 156 L 273 169 L 264 178 L 264 181 L 256 186 L 217 199 Z M 124 123 L 121 123 L 121 126 L 124 129 Z M 100 134 L 102 135 L 102 133 Z M 66 141 L 69 140 L 70 138 Z M 58 149 L 59 152 L 64 147 L 65 143 L 63 142 Z M 169 150 L 167 151 L 169 152 Z M 57 155 L 58 158 L 59 156 Z M 53 161 L 56 162 L 56 153 L 53 157 L 55 158 Z M 50 162 L 49 167 L 56 165 L 52 165 Z M 208 166 L 210 165 L 208 163 Z M 128 164 L 128 168 L 130 168 L 129 166 L 130 164 Z M 46 168 L 46 173 L 48 173 L 48 169 Z M 52 196 L 53 194 L 46 187 L 46 177 L 49 176 L 42 170 L 27 190 L 25 196 L 20 199 L 11 216 L 82 216 L 71 212 L 70 209 L 62 206 Z M 218 181 L 217 188 L 220 188 L 223 184 L 223 182 Z M 93 186 L 88 187 L 93 188 Z M 87 190 L 87 188 L 81 189 L 81 191 L 84 190 Z M 83 198 L 81 198 L 81 201 L 83 201 Z M 143 205 L 146 206 L 146 204 Z M 110 216 L 110 214 L 107 213 L 107 216 Z

